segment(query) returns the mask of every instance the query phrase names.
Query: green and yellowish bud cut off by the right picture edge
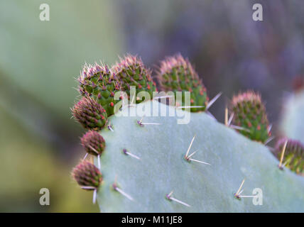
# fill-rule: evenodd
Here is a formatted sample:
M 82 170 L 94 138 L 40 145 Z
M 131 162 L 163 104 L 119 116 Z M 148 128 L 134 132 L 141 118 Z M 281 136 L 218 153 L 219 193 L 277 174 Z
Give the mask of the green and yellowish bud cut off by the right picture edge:
M 286 149 L 283 150 L 283 146 L 286 144 Z M 276 155 L 278 159 L 282 157 L 283 154 L 283 165 L 288 169 L 297 174 L 304 173 L 304 145 L 298 140 L 292 140 L 287 138 L 281 138 L 276 143 Z

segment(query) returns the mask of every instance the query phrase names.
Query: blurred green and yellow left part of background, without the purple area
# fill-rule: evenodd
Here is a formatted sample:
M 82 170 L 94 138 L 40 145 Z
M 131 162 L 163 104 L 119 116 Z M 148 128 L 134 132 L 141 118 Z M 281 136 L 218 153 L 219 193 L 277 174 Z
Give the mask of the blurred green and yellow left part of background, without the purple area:
M 43 3 L 50 21 L 39 20 Z M 80 65 L 121 51 L 115 10 L 109 0 L 1 1 L 0 211 L 98 211 L 68 174 L 66 160 L 83 155 L 69 107 Z M 50 206 L 39 204 L 43 187 Z

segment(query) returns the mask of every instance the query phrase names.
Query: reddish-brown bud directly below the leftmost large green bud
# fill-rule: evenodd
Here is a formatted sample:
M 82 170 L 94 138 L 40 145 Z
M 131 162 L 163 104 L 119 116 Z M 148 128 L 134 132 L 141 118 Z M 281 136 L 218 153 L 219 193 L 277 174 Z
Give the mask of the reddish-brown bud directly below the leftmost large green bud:
M 107 123 L 107 112 L 90 97 L 82 97 L 73 107 L 72 114 L 84 128 L 99 131 Z

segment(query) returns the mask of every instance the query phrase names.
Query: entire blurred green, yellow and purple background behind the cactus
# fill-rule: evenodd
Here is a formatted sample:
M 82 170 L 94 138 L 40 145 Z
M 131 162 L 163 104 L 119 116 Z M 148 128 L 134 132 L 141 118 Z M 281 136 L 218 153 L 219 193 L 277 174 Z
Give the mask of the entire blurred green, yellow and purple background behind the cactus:
M 50 21 L 40 21 L 40 4 Z M 261 3 L 264 21 L 252 20 Z M 302 0 L 31 0 L 0 2 L 0 211 L 99 211 L 72 181 L 83 155 L 70 119 L 82 65 L 126 52 L 155 68 L 181 52 L 194 63 L 222 121 L 239 91 L 260 91 L 276 132 L 282 100 L 304 74 Z M 50 189 L 50 206 L 39 190 Z

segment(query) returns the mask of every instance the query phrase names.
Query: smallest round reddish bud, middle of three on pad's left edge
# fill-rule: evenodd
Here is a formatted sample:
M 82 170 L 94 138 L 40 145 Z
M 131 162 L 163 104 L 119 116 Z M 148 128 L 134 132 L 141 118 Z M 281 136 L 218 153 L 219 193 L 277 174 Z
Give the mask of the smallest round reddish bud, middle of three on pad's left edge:
M 104 138 L 97 131 L 87 131 L 80 140 L 82 147 L 91 155 L 101 155 L 106 147 Z

